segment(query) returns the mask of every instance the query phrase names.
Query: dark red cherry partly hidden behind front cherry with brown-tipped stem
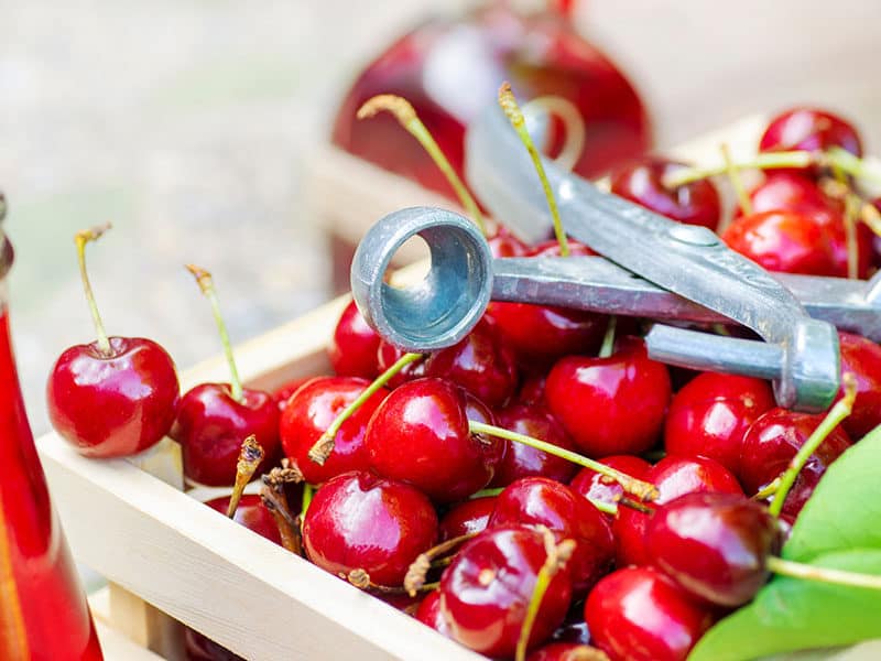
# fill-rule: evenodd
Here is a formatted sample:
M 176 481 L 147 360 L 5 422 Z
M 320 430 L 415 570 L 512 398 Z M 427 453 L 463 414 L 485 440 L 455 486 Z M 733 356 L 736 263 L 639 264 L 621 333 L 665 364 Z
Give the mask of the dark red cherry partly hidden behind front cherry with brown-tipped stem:
M 602 513 L 566 485 L 546 477 L 524 477 L 499 494 L 489 528 L 546 525 L 577 546 L 569 560 L 573 592 L 585 595 L 611 568 L 612 531 Z

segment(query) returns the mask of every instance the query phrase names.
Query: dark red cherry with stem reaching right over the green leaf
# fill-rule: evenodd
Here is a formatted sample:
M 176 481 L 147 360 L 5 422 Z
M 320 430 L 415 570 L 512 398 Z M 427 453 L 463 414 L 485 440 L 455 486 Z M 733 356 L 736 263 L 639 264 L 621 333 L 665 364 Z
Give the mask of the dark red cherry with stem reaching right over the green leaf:
M 645 532 L 652 563 L 697 599 L 737 607 L 770 575 L 780 546 L 776 520 L 736 494 L 686 494 L 660 506 Z

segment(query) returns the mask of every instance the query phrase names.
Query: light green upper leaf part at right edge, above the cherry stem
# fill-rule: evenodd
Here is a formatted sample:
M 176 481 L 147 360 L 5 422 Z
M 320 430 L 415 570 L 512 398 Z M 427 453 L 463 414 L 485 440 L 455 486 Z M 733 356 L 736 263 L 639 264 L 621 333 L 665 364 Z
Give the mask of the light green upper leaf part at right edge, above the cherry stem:
M 829 466 L 802 509 L 783 557 L 811 562 L 847 549 L 881 549 L 881 426 Z

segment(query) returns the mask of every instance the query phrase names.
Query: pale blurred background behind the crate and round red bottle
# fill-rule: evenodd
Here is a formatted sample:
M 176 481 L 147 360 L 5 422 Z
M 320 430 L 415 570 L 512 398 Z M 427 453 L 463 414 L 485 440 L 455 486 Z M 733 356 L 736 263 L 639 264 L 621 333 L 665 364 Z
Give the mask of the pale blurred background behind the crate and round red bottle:
M 315 306 L 330 266 L 304 199 L 339 100 L 394 37 L 474 4 L 0 0 L 0 189 L 35 431 L 47 429 L 52 362 L 93 336 L 75 230 L 115 223 L 89 250 L 108 330 L 159 340 L 181 368 L 219 351 L 184 262 L 214 272 L 233 342 Z M 875 153 L 880 19 L 866 0 L 585 0 L 574 11 L 640 90 L 661 150 L 807 102 L 851 119 Z

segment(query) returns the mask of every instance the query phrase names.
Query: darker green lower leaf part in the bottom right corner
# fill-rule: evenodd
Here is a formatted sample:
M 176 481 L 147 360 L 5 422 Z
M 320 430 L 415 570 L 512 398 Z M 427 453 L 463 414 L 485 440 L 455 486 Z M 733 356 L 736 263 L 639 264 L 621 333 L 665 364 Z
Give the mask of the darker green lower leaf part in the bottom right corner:
M 881 575 L 881 549 L 828 553 L 811 564 Z M 688 659 L 746 661 L 879 636 L 881 590 L 775 576 L 751 604 L 707 631 Z

